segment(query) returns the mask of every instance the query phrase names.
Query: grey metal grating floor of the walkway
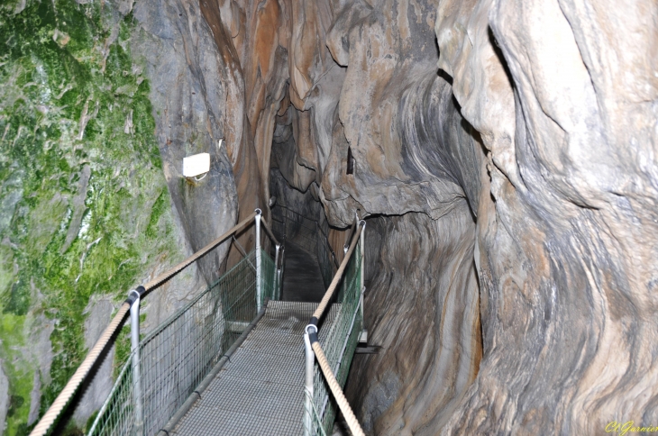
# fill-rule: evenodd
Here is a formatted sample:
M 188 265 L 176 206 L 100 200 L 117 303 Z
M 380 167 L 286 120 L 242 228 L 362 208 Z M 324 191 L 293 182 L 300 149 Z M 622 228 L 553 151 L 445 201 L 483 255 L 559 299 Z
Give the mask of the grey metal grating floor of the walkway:
M 265 315 L 172 432 L 179 436 L 302 434 L 304 327 L 316 303 L 270 301 Z M 320 329 L 334 321 L 333 304 Z

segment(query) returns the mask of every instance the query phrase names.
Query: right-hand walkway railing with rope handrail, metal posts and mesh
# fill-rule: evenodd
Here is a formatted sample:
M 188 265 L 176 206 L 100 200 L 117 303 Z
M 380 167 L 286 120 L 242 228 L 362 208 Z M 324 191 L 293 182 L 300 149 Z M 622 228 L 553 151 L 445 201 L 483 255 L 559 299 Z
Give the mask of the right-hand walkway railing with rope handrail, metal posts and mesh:
M 306 327 L 305 436 L 332 434 L 339 407 L 352 434 L 363 434 L 342 388 L 363 327 L 364 228 L 364 221 L 352 227 L 343 262 Z M 321 346 L 318 329 L 322 328 L 325 308 L 336 293 L 334 320 Z

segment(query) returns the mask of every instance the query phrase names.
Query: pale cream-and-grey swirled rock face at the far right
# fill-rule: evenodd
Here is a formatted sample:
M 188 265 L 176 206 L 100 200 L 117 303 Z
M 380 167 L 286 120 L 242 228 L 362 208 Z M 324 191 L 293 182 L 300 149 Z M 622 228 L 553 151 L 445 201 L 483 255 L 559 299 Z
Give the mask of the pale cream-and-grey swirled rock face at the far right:
M 445 431 L 658 420 L 656 14 L 651 2 L 440 5 L 439 65 L 482 132 L 491 193 L 476 254 L 484 357 Z

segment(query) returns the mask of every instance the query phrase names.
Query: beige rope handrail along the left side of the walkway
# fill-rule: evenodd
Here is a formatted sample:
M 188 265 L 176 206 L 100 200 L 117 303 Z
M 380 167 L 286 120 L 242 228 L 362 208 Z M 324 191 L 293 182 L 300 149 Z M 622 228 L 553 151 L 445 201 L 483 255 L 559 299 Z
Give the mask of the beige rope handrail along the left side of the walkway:
M 133 305 L 133 302 L 137 298 L 135 294 L 140 296 L 145 295 L 168 281 L 169 278 L 176 276 L 180 271 L 187 268 L 194 261 L 205 256 L 208 251 L 215 249 L 219 244 L 226 241 L 234 233 L 242 230 L 244 226 L 246 226 L 251 222 L 251 220 L 254 219 L 256 214 L 256 212 L 251 213 L 248 217 L 242 220 L 242 222 L 237 223 L 231 230 L 225 232 L 222 236 L 215 239 L 215 241 L 210 242 L 203 249 L 196 251 L 196 253 L 180 262 L 174 268 L 170 268 L 165 273 L 160 274 L 160 276 L 153 278 L 146 285 L 139 286 L 136 289 L 136 293 L 131 293 L 131 296 L 123 302 L 121 307 L 119 307 L 119 311 L 114 315 L 114 318 L 105 328 L 105 331 L 98 339 L 98 341 L 96 341 L 94 347 L 87 353 L 87 357 L 82 361 L 76 372 L 73 374 L 73 377 L 69 379 L 69 382 L 66 384 L 66 386 L 64 386 L 64 389 L 62 389 L 59 395 L 57 395 L 55 401 L 50 404 L 48 411 L 43 414 L 41 420 L 39 420 L 39 423 L 37 423 L 34 429 L 30 432 L 30 436 L 44 436 L 47 434 L 52 424 L 55 423 L 59 418 L 60 413 L 62 413 L 64 408 L 69 405 L 71 398 L 76 394 L 76 392 L 78 392 L 78 388 L 87 378 L 91 368 L 93 368 L 96 364 L 96 360 L 103 353 L 105 347 L 109 344 L 110 340 L 114 337 L 116 332 L 119 331 L 123 321 L 125 321 L 126 314 L 128 314 L 130 307 Z

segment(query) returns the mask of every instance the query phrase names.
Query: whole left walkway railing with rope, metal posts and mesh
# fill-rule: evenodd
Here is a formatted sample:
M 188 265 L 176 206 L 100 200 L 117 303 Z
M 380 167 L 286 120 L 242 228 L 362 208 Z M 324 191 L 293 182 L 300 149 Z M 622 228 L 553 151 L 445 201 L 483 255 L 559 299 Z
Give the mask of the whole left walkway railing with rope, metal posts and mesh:
M 110 395 L 97 413 L 89 435 L 155 434 L 172 426 L 171 419 L 194 395 L 196 386 L 215 368 L 227 350 L 245 332 L 268 299 L 280 295 L 279 241 L 260 210 L 229 232 L 197 251 L 175 268 L 129 294 L 110 325 L 67 386 L 32 430 L 32 436 L 52 431 L 66 412 L 71 398 L 86 381 L 100 356 L 116 341 L 126 314 L 131 316 L 131 353 L 121 367 Z M 251 220 L 256 225 L 256 248 L 194 300 L 172 314 L 140 339 L 140 302 L 151 290 L 191 265 L 210 250 L 242 231 Z M 260 227 L 275 244 L 275 259 L 260 248 Z M 168 427 L 169 426 L 169 427 Z

